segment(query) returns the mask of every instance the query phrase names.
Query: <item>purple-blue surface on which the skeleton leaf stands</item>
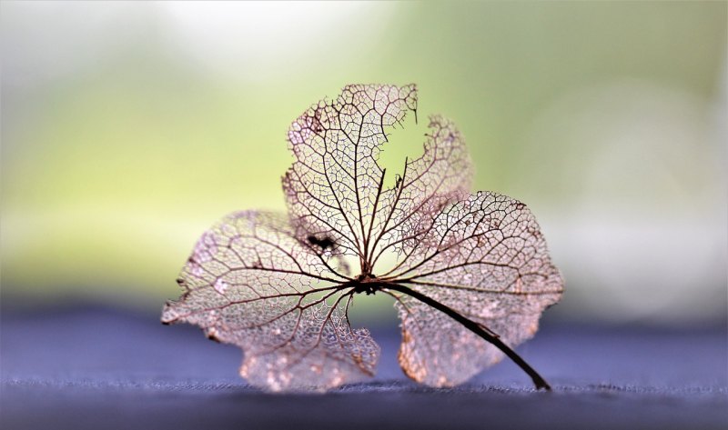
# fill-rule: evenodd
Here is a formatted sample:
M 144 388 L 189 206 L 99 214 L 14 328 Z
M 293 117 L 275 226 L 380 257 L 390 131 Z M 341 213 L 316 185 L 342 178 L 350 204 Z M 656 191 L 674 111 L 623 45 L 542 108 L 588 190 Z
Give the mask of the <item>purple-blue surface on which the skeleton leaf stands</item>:
M 371 382 L 268 395 L 237 375 L 237 348 L 156 315 L 100 308 L 3 315 L 3 429 L 728 428 L 724 329 L 545 325 L 519 348 L 553 385 L 509 362 L 436 390 L 402 375 L 392 327 Z

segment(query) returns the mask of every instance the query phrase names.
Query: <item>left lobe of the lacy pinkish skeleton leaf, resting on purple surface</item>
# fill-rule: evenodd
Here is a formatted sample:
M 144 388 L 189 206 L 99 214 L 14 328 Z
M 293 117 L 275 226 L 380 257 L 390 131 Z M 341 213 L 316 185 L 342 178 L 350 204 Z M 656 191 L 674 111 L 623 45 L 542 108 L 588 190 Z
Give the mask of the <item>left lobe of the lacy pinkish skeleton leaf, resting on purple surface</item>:
M 197 242 L 178 280 L 185 294 L 162 321 L 238 345 L 240 375 L 252 385 L 323 390 L 373 375 L 379 358 L 369 331 L 350 328 L 340 280 L 285 218 L 241 212 Z

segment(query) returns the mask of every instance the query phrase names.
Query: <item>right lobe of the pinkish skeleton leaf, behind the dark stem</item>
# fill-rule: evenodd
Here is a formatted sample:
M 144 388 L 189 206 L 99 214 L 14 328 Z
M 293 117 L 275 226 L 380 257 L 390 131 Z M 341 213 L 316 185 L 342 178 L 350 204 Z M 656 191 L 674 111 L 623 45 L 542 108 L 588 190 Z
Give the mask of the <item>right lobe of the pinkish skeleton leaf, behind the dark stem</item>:
M 487 327 L 513 347 L 561 297 L 562 280 L 531 211 L 490 192 L 445 208 L 403 251 L 399 283 Z M 498 362 L 501 351 L 430 306 L 399 295 L 399 363 L 418 382 L 458 385 Z

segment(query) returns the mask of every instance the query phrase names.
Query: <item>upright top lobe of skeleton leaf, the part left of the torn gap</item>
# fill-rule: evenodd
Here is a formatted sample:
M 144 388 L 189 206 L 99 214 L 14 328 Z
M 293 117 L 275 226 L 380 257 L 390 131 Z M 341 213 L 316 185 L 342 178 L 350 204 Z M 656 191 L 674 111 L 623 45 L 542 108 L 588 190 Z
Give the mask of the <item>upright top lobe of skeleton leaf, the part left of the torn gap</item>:
M 380 145 L 416 108 L 414 85 L 349 85 L 298 117 L 288 131 L 295 162 L 283 189 L 299 236 L 330 236 L 342 254 L 366 259 L 383 185 Z

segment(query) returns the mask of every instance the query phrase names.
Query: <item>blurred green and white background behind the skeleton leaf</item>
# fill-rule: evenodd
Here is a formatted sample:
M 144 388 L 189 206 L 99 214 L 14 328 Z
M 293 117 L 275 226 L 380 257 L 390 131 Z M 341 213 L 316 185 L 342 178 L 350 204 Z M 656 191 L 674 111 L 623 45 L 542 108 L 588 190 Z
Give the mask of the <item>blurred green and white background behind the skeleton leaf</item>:
M 209 225 L 284 210 L 308 105 L 411 82 L 384 162 L 455 120 L 476 188 L 541 222 L 567 280 L 548 314 L 721 321 L 726 5 L 4 1 L 4 305 L 157 309 Z

